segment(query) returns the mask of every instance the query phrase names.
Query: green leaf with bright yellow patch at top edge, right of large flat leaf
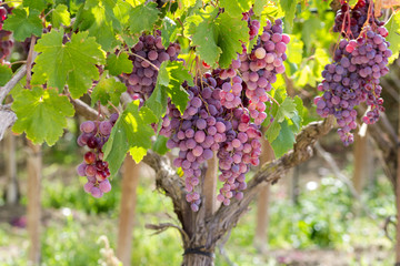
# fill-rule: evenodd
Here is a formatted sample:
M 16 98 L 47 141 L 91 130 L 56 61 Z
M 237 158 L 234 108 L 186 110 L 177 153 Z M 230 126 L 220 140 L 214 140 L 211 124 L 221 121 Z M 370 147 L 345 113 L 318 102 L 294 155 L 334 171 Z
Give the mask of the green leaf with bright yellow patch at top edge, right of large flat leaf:
M 114 0 L 88 0 L 77 16 L 74 29 L 89 31 L 90 37 L 96 37 L 98 43 L 106 51 L 117 44 L 117 37 L 121 24 L 113 13 Z

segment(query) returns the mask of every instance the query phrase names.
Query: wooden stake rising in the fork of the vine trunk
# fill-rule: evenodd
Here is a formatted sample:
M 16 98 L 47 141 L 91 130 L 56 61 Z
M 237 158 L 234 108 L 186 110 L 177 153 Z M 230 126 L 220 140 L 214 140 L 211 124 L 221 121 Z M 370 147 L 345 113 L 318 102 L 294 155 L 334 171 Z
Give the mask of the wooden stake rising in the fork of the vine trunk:
M 206 206 L 206 217 L 210 217 L 217 209 L 216 191 L 217 191 L 217 174 L 218 174 L 218 158 L 217 153 L 207 162 L 207 172 L 203 183 L 203 195 Z

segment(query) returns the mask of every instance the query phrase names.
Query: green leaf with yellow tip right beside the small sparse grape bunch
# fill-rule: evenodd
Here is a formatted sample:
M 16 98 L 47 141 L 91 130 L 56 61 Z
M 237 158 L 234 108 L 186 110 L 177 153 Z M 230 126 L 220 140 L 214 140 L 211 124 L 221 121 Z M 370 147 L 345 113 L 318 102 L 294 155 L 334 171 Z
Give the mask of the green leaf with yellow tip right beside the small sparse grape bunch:
M 146 106 L 139 111 L 139 101 L 131 102 L 112 127 L 110 137 L 103 146 L 104 160 L 110 165 L 112 175 L 117 174 L 127 152 L 139 163 L 151 149 L 151 136 L 154 131 L 151 123 L 157 117 Z

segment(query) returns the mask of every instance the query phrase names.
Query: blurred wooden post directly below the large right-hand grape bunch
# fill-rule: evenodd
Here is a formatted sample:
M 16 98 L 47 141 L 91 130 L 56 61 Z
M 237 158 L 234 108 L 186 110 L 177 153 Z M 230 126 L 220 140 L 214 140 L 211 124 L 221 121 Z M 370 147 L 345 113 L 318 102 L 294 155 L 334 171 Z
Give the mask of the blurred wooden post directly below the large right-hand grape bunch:
M 353 172 L 353 186 L 359 195 L 361 195 L 363 184 L 364 184 L 364 175 L 366 175 L 366 163 L 368 158 L 368 137 L 367 135 L 354 135 L 354 172 Z

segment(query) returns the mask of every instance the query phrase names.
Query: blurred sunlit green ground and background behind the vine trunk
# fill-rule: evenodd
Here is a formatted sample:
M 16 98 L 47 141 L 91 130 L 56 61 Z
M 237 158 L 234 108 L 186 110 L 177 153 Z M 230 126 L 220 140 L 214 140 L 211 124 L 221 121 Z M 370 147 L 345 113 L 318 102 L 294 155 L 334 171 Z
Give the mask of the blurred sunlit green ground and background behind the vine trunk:
M 123 183 L 114 177 L 100 200 L 84 193 L 86 178 L 76 173 L 84 153 L 76 144 L 80 121 L 69 120 L 62 140 L 37 154 L 40 184 L 28 182 L 32 149 L 26 139 L 8 132 L 0 142 L 0 265 L 27 265 L 29 186 L 41 187 L 41 265 L 113 265 L 107 257 L 117 248 Z M 264 190 L 217 249 L 216 265 L 392 265 L 396 204 L 382 158 L 368 133 L 343 147 L 332 131 L 312 160 Z M 178 231 L 144 228 L 178 224 L 171 201 L 154 190 L 153 174 L 140 166 L 130 262 L 179 265 Z M 102 235 L 112 250 L 104 250 Z

